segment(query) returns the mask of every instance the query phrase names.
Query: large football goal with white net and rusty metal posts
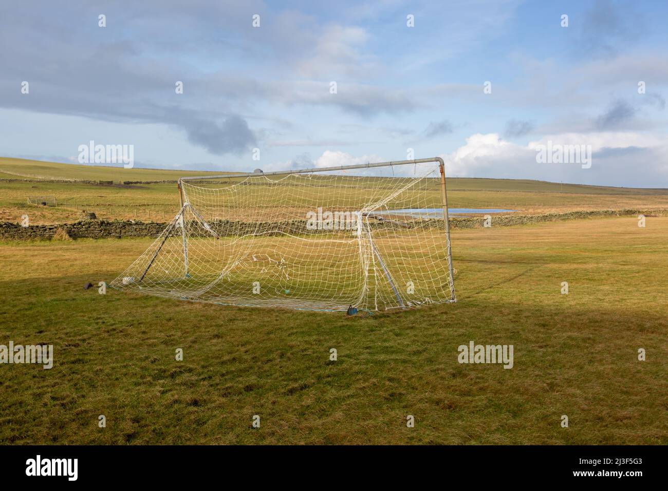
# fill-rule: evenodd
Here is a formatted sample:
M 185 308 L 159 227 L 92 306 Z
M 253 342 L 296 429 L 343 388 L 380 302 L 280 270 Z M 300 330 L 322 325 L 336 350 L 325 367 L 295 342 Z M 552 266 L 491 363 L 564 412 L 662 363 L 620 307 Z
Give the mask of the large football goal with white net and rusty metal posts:
M 178 191 L 176 216 L 112 287 L 334 311 L 456 301 L 440 157 L 184 177 Z

